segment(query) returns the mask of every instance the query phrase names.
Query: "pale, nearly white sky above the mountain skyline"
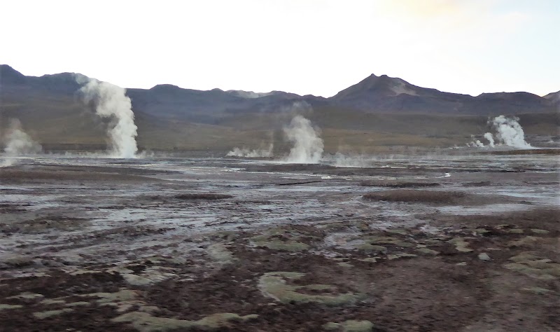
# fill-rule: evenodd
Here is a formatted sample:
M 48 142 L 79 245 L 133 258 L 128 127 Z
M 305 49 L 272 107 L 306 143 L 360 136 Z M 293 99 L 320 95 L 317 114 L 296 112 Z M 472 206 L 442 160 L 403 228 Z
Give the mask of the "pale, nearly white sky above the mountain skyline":
M 560 0 L 2 0 L 0 63 L 125 88 L 330 97 L 370 74 L 560 90 Z

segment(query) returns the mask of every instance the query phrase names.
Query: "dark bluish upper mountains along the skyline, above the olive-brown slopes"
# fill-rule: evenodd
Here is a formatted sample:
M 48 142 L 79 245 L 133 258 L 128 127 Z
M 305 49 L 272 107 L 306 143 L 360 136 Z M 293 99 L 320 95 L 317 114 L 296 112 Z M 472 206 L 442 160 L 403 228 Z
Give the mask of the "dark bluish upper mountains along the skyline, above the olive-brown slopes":
M 25 76 L 4 64 L 0 65 L 0 87 L 3 97 L 6 97 L 6 94 L 72 95 L 80 85 L 71 73 Z M 498 92 L 472 97 L 421 88 L 401 78 L 374 74 L 330 98 L 300 96 L 283 91 L 202 91 L 169 84 L 155 85 L 148 90 L 127 89 L 134 111 L 202 123 L 213 122 L 225 114 L 276 111 L 293 102 L 307 102 L 311 106 L 319 107 L 339 106 L 366 113 L 542 113 L 557 109 L 560 104 L 559 93 L 552 92 L 545 97 L 539 97 L 528 92 Z

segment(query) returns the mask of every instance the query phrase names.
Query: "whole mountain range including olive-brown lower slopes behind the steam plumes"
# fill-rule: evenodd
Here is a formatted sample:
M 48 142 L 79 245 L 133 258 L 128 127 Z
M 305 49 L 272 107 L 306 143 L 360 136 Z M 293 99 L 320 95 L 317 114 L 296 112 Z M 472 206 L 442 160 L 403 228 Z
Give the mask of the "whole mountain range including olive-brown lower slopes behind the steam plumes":
M 80 85 L 75 77 L 73 73 L 25 76 L 6 64 L 0 65 L 0 121 L 20 118 L 43 141 L 102 144 L 97 136 L 103 136 L 104 123 L 80 102 L 76 93 Z M 329 98 L 283 91 L 202 91 L 169 84 L 126 91 L 132 99 L 140 141 L 148 146 L 157 136 L 156 141 L 167 144 L 167 148 L 184 146 L 177 141 L 189 139 L 193 132 L 215 146 L 218 141 L 225 144 L 221 139 L 225 132 L 233 144 L 231 137 L 239 132 L 230 130 L 279 130 L 293 113 L 294 104 L 307 109 L 307 105 L 312 106 L 309 117 L 316 125 L 338 130 L 332 134 L 332 144 L 346 144 L 344 137 L 349 137 L 349 132 L 342 134 L 340 130 L 429 137 L 477 134 L 486 130 L 489 116 L 500 114 L 525 116 L 535 133 L 554 134 L 560 126 L 560 91 L 544 97 L 528 92 L 472 97 L 421 88 L 386 75 L 372 74 Z M 184 129 L 187 127 L 190 131 Z M 244 139 L 239 136 L 239 141 Z M 356 144 L 362 144 L 360 139 L 351 145 Z

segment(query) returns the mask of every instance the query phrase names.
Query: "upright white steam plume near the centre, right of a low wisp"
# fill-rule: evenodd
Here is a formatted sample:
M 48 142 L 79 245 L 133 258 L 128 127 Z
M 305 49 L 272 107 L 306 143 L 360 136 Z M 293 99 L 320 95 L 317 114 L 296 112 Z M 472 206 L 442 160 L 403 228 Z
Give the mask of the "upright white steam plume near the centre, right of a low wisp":
M 287 162 L 299 164 L 316 164 L 323 155 L 323 139 L 311 126 L 311 121 L 303 116 L 294 116 L 290 125 L 284 127 L 284 134 L 292 142 Z

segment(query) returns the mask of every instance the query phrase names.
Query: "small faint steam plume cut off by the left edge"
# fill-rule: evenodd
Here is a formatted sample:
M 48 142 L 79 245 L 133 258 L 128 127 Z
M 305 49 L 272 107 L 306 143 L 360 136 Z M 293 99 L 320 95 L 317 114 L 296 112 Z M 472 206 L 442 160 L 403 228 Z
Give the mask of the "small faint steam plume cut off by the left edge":
M 4 134 L 3 141 L 5 143 L 4 152 L 10 158 L 19 157 L 29 153 L 41 152 L 42 147 L 36 141 L 31 139 L 27 132 L 23 131 L 20 120 L 11 119 L 8 130 Z M 12 160 L 5 160 L 1 166 L 13 165 Z

